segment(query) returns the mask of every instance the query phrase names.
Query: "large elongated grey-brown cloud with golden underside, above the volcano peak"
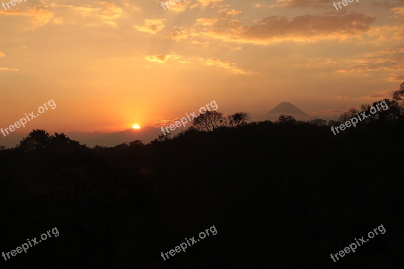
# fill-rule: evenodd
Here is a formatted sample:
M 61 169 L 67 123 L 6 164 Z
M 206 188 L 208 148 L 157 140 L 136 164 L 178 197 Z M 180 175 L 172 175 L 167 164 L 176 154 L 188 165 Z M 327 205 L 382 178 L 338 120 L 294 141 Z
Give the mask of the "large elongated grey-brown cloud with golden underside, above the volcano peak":
M 267 45 L 271 42 L 313 42 L 324 39 L 347 39 L 369 31 L 374 16 L 363 13 L 348 15 L 302 15 L 288 19 L 271 16 L 256 25 L 233 29 L 195 32 L 194 36 L 222 39 L 228 42 Z

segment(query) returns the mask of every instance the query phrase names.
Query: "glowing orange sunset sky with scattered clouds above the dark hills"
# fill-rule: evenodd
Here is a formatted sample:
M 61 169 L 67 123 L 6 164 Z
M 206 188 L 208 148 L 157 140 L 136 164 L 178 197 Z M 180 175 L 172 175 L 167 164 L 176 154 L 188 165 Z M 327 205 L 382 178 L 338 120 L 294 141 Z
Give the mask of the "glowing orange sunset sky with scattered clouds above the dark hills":
M 282 101 L 337 115 L 391 98 L 404 82 L 402 0 L 338 11 L 330 0 L 167 4 L 0 7 L 0 127 L 49 100 L 56 108 L 18 131 L 160 128 L 213 100 L 225 115 Z

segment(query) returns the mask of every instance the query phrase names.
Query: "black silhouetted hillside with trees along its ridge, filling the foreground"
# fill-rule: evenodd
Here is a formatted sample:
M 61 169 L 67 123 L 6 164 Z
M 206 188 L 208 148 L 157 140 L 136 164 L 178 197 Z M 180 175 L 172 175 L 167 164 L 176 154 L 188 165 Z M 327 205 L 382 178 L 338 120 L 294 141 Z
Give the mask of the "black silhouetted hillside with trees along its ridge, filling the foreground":
M 399 106 L 337 136 L 288 117 L 113 148 L 35 130 L 0 151 L 0 252 L 60 235 L 2 267 L 402 268 L 403 131 Z

